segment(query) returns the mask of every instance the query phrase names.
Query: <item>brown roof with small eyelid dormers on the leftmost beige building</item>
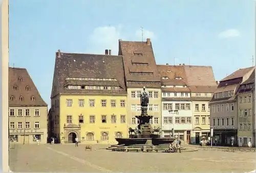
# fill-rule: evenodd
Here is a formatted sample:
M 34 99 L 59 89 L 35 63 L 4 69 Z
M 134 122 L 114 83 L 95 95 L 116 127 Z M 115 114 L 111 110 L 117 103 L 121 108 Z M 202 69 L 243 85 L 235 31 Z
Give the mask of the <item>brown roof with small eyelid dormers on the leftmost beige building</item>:
M 47 106 L 26 68 L 9 67 L 9 106 Z

